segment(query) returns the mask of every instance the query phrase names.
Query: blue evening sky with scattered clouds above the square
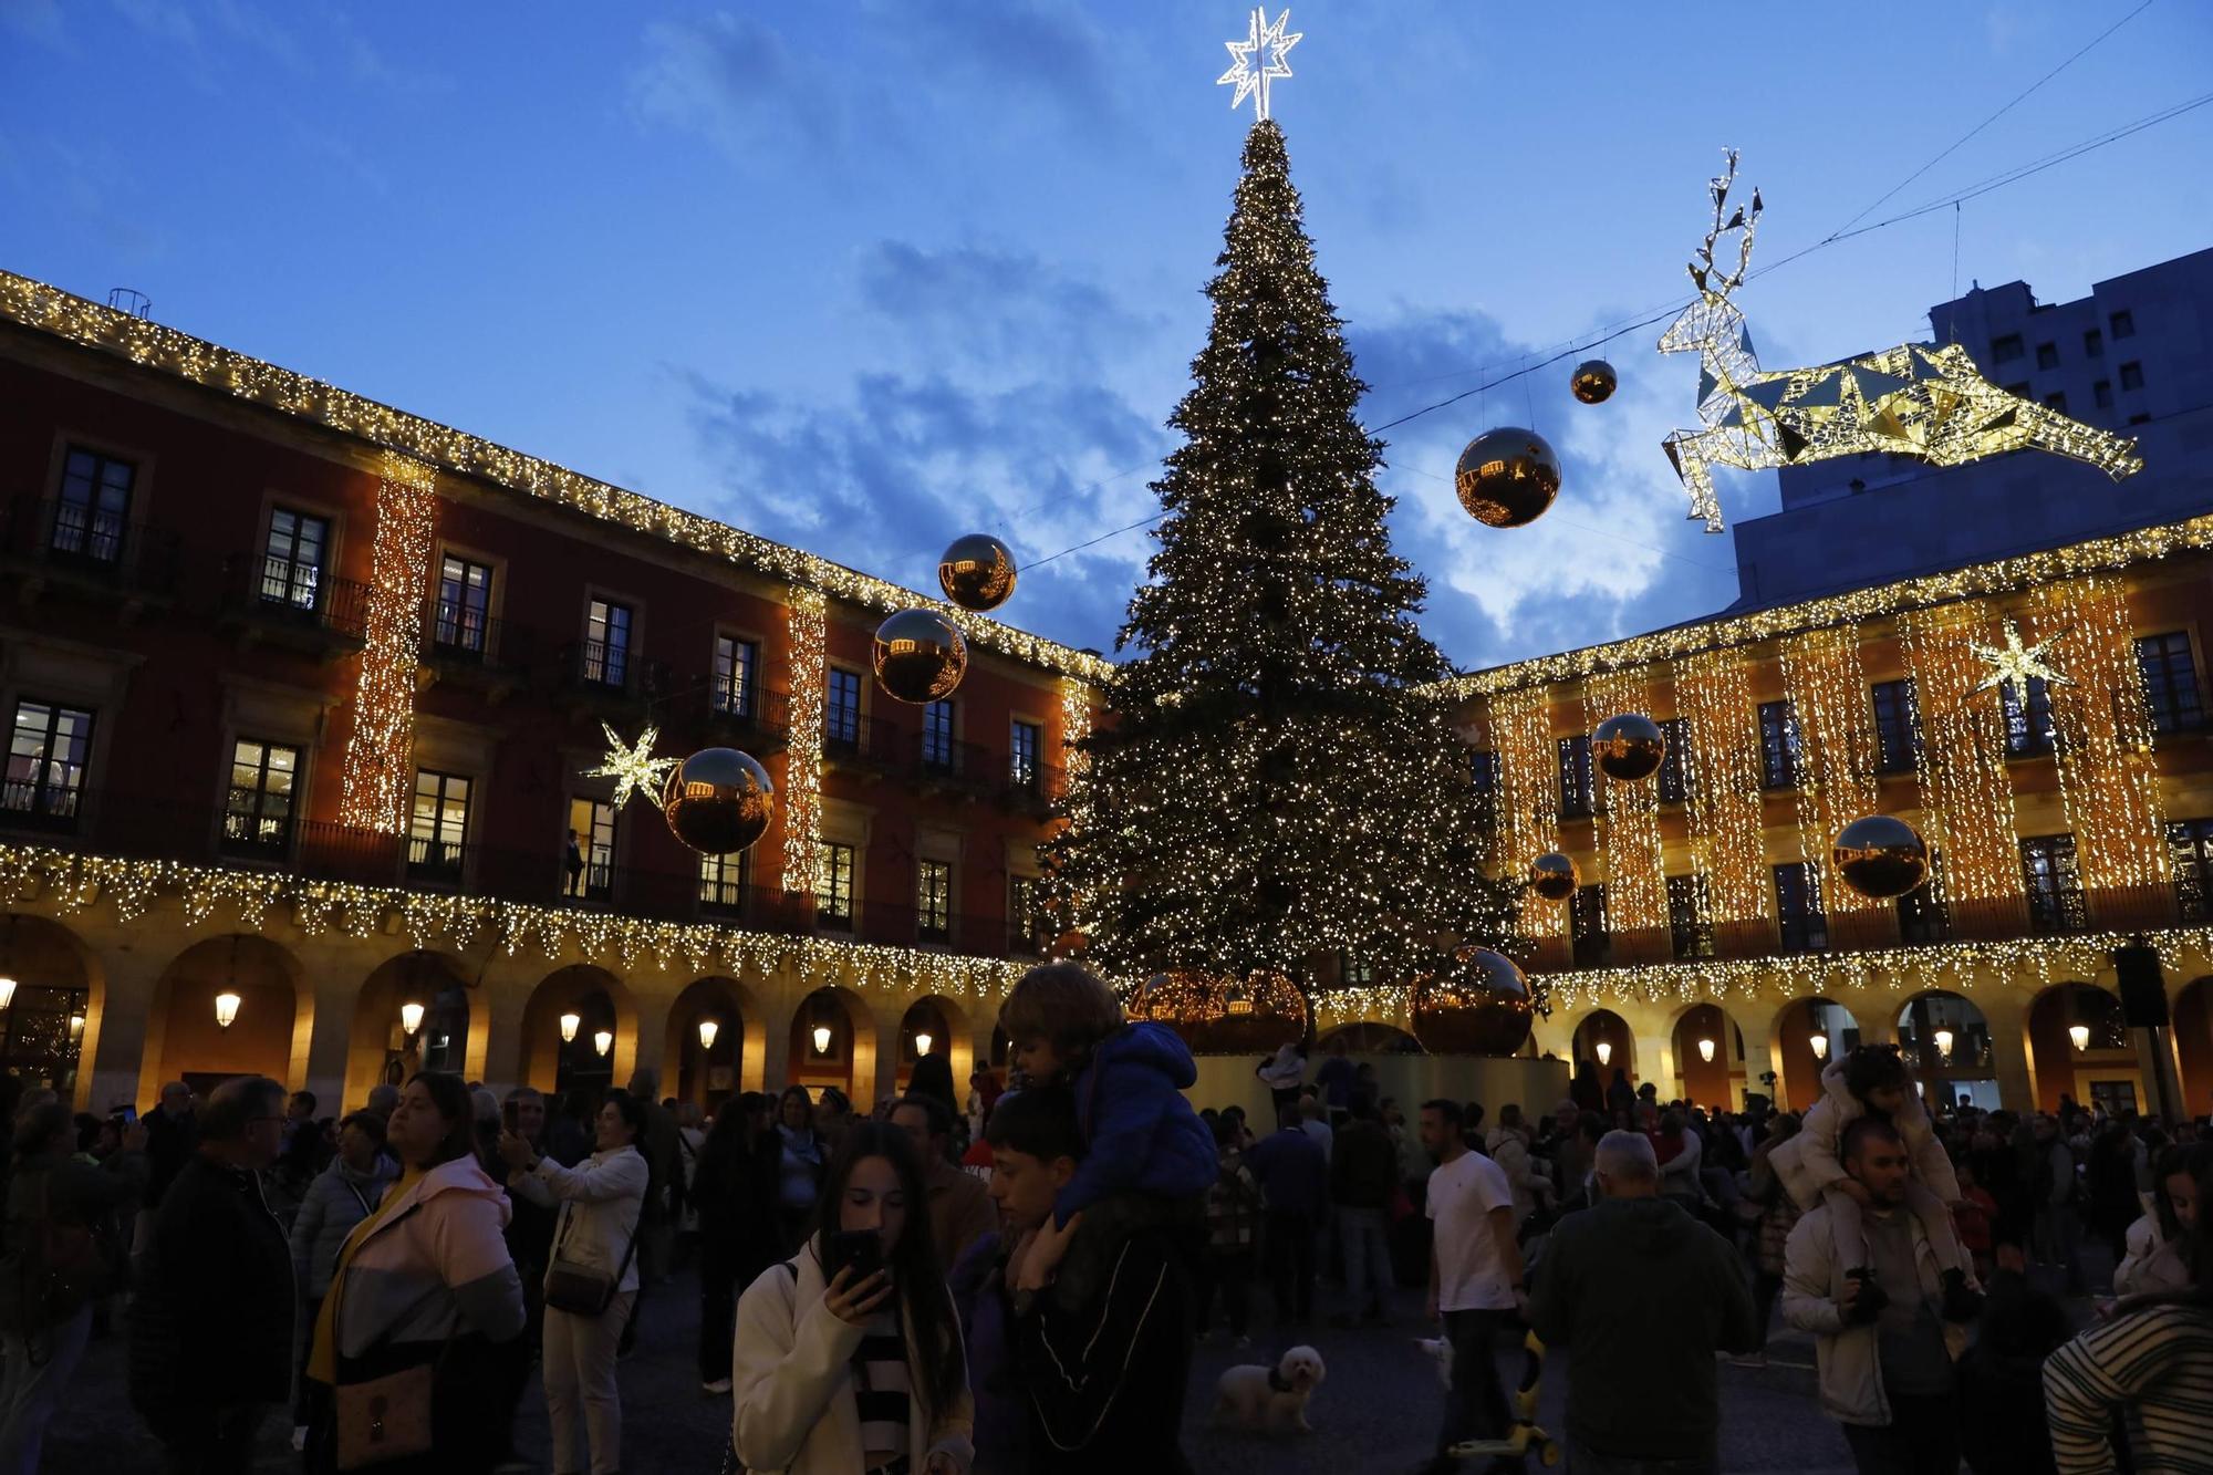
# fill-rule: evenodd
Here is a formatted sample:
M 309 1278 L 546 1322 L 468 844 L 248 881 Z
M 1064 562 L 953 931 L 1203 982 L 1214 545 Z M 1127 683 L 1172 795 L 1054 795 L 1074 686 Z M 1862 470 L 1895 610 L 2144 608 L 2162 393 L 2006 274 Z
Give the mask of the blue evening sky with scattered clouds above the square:
M 1319 0 L 1275 115 L 1370 423 L 1686 290 L 1720 151 L 1821 239 L 2138 0 Z M 1038 558 L 1153 509 L 1250 104 L 1230 2 L 0 0 L 0 266 L 916 587 L 960 532 Z M 2158 0 L 1870 219 L 2209 91 Z M 2045 299 L 2213 244 L 2213 109 L 1974 199 L 1956 283 Z M 1766 363 L 1928 337 L 1954 215 L 1750 283 Z M 1660 436 L 1658 328 L 1390 432 L 1425 627 L 1467 664 L 1720 609 Z M 1452 498 L 1478 430 L 1567 458 L 1534 527 Z M 1724 483 L 1728 516 L 1773 476 Z M 1124 534 L 1002 611 L 1111 649 Z

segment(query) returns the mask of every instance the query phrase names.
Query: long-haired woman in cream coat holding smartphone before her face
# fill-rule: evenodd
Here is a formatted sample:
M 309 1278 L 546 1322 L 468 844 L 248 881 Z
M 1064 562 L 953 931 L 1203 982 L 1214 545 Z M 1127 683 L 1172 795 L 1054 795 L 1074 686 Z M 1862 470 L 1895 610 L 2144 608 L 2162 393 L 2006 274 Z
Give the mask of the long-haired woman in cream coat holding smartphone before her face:
M 748 1471 L 965 1475 L 967 1358 L 905 1132 L 845 1134 L 812 1234 L 737 1302 L 730 1380 Z

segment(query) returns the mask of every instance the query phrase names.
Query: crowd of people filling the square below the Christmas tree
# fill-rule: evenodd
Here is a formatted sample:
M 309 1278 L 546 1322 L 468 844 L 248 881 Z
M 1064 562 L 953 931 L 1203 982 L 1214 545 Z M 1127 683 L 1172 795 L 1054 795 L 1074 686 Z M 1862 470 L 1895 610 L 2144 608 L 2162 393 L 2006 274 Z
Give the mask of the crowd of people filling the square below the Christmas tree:
M 932 1054 L 867 1114 L 790 1085 L 706 1121 L 642 1070 L 553 1103 L 423 1072 L 343 1116 L 173 1083 L 97 1121 L 0 1081 L 0 1475 L 40 1468 L 111 1324 L 170 1471 L 248 1468 L 279 1406 L 305 1471 L 529 1468 L 536 1371 L 553 1471 L 609 1475 L 679 1262 L 733 1473 L 1186 1471 L 1193 1347 L 1248 1347 L 1255 1285 L 1279 1342 L 1425 1287 L 1434 1471 L 1538 1453 L 1498 1366 L 1525 1338 L 1567 1349 L 1571 1471 L 1717 1471 L 1717 1362 L 1762 1366 L 1777 1324 L 1870 1475 L 2213 1468 L 2202 1121 L 1930 1112 L 1890 1048 L 1804 1114 L 1585 1063 L 1545 1116 L 1410 1118 L 1334 1043 L 1261 1061 L 1253 1123 L 1193 1110 L 1186 1045 L 1078 966 L 1031 970 L 1000 1028 L 1005 1083 L 956 1098 Z M 2065 1298 L 2105 1262 L 2109 1300 Z

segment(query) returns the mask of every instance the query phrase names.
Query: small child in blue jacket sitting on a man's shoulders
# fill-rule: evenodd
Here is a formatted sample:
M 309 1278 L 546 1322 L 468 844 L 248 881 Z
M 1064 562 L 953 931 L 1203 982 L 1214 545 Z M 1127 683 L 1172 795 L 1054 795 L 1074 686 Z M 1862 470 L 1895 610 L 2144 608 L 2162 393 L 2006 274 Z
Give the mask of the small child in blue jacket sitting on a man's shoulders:
M 1025 972 L 998 1025 L 1020 1076 L 1064 1081 L 1076 1096 L 1084 1158 L 1053 1196 L 1053 1223 L 1091 1211 L 1091 1240 L 1168 1225 L 1197 1236 L 1219 1163 L 1213 1132 L 1184 1098 L 1199 1079 L 1191 1048 L 1166 1025 L 1129 1023 L 1113 990 L 1078 963 Z

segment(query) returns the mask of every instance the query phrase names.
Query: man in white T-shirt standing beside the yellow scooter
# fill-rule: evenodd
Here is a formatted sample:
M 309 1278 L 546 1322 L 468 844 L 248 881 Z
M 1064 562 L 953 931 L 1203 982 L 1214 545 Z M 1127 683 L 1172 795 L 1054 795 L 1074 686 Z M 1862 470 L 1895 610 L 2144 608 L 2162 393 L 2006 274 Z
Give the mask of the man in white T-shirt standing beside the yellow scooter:
M 1505 1172 L 1461 1138 L 1461 1103 L 1421 1105 L 1421 1143 L 1436 1158 L 1430 1174 L 1430 1316 L 1452 1340 L 1452 1389 L 1445 1424 L 1436 1435 L 1438 1475 L 1461 1473 L 1445 1455 L 1463 1440 L 1503 1440 L 1514 1426 L 1492 1347 L 1500 1327 L 1520 1327 L 1529 1291 L 1523 1285 L 1520 1242 L 1514 1238 L 1514 1187 Z M 1494 1471 L 1518 1471 L 1520 1459 L 1498 1459 Z M 1472 1471 L 1467 1475 L 1474 1475 Z

